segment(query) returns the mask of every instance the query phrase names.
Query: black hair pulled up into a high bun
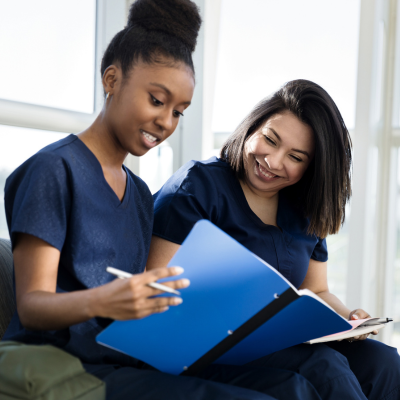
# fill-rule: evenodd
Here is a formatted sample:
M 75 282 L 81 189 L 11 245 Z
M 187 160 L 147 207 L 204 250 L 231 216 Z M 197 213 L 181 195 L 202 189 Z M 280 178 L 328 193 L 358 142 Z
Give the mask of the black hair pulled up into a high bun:
M 101 62 L 101 75 L 119 63 L 124 78 L 135 63 L 188 65 L 193 73 L 192 53 L 196 47 L 201 17 L 190 0 L 136 0 L 127 26 L 108 45 Z

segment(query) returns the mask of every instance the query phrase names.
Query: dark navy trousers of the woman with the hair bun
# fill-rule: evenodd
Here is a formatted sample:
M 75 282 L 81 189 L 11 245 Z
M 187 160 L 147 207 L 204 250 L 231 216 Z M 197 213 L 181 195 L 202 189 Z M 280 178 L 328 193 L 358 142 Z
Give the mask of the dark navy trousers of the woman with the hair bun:
M 106 383 L 107 400 L 321 400 L 305 378 L 269 367 L 211 365 L 197 377 L 84 364 Z

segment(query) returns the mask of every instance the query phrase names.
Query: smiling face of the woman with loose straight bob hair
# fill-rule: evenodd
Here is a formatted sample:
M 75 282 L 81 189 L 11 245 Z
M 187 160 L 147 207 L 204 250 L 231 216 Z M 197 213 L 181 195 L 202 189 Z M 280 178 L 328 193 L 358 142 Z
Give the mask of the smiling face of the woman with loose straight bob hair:
M 310 126 L 288 111 L 273 115 L 246 141 L 246 185 L 270 197 L 295 184 L 310 165 L 314 148 Z

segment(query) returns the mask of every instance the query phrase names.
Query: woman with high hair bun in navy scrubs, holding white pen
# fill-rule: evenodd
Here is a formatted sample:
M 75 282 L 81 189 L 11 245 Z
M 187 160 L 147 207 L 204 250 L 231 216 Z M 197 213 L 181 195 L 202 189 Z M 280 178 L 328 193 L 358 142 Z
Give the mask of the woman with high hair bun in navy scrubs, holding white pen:
M 318 399 L 289 371 L 211 367 L 202 379 L 176 377 L 95 341 L 110 319 L 143 318 L 181 302 L 154 298 L 161 292 L 147 286 L 182 271 L 144 272 L 153 199 L 123 161 L 166 140 L 190 105 L 200 25 L 192 1 L 135 1 L 128 25 L 105 51 L 105 102 L 94 123 L 45 147 L 7 179 L 17 312 L 3 339 L 53 344 L 79 357 L 106 382 L 108 399 L 271 400 L 279 385 L 291 399 Z M 107 266 L 135 275 L 113 280 Z

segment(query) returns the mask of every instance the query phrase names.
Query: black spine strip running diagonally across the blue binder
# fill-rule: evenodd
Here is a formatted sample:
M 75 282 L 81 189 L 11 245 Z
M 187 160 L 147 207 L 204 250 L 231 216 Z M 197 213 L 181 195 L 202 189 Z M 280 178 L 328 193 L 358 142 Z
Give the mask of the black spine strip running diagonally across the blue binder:
M 221 357 L 224 353 L 234 347 L 237 343 L 243 340 L 245 337 L 250 335 L 258 329 L 262 324 L 271 319 L 274 315 L 278 314 L 291 302 L 296 300 L 299 295 L 292 289 L 289 288 L 284 291 L 279 298 L 269 303 L 261 311 L 251 317 L 247 322 L 236 329 L 232 335 L 227 336 L 224 340 L 219 342 L 210 351 L 200 357 L 191 366 L 189 366 L 180 375 L 194 376 L 209 366 L 212 362 Z

